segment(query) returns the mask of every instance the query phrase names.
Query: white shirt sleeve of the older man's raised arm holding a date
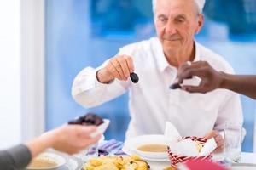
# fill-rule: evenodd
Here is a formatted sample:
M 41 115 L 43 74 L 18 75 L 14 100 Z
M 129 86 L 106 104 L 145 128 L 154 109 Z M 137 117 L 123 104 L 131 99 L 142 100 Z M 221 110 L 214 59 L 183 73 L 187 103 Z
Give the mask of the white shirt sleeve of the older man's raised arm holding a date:
M 99 71 L 104 65 L 98 68 L 87 67 L 83 71 L 80 71 L 77 77 L 73 81 L 72 95 L 80 105 L 85 107 L 94 107 L 101 105 L 111 99 L 124 94 L 129 88 L 131 82 L 119 81 L 114 79 L 108 84 L 99 82 L 96 78 L 96 72 Z

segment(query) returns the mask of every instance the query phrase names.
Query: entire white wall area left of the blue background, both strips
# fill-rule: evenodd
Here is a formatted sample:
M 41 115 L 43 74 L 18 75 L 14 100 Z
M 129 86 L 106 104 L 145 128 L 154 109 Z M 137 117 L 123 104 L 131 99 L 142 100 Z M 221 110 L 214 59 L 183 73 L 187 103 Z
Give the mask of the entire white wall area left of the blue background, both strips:
M 0 150 L 44 132 L 44 0 L 0 0 Z

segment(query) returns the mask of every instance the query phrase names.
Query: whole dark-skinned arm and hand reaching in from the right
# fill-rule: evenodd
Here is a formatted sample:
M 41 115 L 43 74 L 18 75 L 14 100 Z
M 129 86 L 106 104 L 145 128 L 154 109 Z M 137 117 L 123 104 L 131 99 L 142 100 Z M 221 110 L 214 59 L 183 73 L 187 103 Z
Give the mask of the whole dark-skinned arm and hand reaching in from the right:
M 256 76 L 227 74 L 214 70 L 207 61 L 197 61 L 191 65 L 185 63 L 179 67 L 176 83 L 182 84 L 184 79 L 194 76 L 201 78 L 200 85 L 182 86 L 183 90 L 204 94 L 217 88 L 225 88 L 256 99 Z

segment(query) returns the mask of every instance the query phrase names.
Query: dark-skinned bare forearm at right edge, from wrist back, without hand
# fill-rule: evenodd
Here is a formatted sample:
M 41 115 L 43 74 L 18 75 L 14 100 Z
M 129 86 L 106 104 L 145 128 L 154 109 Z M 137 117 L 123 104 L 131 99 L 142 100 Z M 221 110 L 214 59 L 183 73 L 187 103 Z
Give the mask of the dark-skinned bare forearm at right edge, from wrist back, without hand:
M 220 88 L 230 89 L 236 93 L 256 99 L 256 76 L 230 75 L 221 73 L 223 82 Z

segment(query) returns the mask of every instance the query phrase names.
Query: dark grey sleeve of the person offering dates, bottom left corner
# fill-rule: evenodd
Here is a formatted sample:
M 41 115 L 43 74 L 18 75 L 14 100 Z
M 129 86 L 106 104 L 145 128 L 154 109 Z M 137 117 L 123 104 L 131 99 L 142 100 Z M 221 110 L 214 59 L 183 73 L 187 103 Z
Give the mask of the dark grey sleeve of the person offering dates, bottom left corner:
M 9 150 L 0 151 L 0 169 L 14 170 L 25 168 L 32 159 L 30 150 L 24 144 Z

